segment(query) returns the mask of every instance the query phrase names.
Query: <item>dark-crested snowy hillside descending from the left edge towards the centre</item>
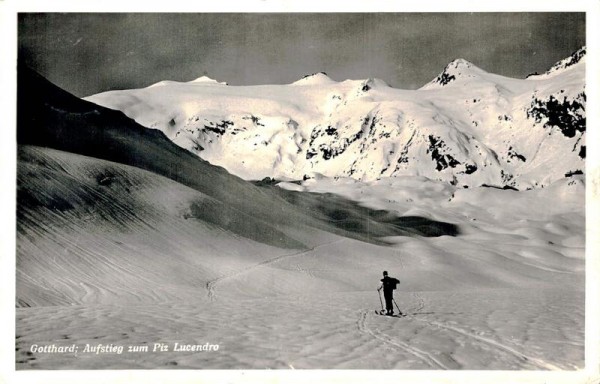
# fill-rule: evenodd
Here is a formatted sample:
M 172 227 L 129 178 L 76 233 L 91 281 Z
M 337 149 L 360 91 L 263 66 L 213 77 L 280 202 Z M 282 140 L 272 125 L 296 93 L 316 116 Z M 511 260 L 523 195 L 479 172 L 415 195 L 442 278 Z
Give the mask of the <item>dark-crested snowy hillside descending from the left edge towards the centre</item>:
M 231 271 L 237 255 L 295 254 L 335 236 L 387 244 L 380 238 L 458 233 L 256 186 L 26 67 L 18 75 L 18 307 L 143 301 L 155 284 L 182 298 Z

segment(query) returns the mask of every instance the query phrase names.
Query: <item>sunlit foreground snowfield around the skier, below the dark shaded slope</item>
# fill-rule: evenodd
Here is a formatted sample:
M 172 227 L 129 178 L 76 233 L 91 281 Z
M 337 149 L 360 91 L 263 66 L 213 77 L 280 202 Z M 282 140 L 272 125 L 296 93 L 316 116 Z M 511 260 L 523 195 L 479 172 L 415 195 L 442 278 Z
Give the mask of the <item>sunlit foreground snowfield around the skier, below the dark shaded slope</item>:
M 24 165 L 56 161 L 94 183 L 94 168 L 114 170 L 109 190 L 93 196 L 125 222 L 102 210 L 86 217 L 83 208 L 26 215 L 19 369 L 583 368 L 581 178 L 526 192 L 454 190 L 411 178 L 311 180 L 307 190 L 358 194 L 372 208 L 449 220 L 461 234 L 390 236 L 390 245 L 376 245 L 306 230 L 310 247 L 286 250 L 186 218 L 200 194 L 149 172 L 40 148 L 22 156 L 30 159 Z M 394 196 L 398 183 L 412 201 Z M 73 187 L 65 182 L 61 192 Z M 383 269 L 402 282 L 396 301 L 405 318 L 375 314 Z M 176 352 L 176 342 L 219 350 Z M 32 344 L 73 343 L 165 343 L 171 351 L 28 354 Z

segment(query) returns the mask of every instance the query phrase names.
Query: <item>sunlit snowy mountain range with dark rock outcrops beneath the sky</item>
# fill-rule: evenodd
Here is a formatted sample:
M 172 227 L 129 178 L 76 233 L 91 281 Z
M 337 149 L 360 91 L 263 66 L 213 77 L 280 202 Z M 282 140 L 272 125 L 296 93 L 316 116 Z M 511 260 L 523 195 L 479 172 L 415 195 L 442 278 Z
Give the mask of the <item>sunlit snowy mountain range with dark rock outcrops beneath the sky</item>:
M 418 175 L 526 189 L 584 172 L 584 75 L 581 49 L 528 79 L 458 59 L 419 90 L 316 73 L 289 85 L 160 82 L 87 100 L 245 179 Z

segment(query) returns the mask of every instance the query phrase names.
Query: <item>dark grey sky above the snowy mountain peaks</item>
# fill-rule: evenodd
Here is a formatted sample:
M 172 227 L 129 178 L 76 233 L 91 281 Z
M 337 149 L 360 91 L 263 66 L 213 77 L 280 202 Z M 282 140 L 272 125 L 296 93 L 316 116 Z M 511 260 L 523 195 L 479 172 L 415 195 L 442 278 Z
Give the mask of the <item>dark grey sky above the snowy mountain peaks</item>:
M 83 97 L 207 75 L 231 85 L 381 78 L 415 89 L 455 58 L 524 78 L 585 45 L 583 13 L 20 14 L 19 60 Z

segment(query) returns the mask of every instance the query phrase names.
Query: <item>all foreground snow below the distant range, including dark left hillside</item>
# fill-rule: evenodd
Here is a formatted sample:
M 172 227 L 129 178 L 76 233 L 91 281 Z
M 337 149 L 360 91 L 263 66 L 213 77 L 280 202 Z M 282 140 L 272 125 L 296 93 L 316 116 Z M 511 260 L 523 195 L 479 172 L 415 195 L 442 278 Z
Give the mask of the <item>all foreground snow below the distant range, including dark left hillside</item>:
M 17 369 L 583 366 L 581 175 L 253 185 L 23 68 L 18 112 Z

